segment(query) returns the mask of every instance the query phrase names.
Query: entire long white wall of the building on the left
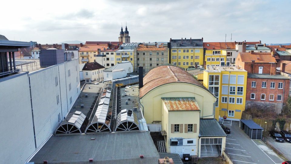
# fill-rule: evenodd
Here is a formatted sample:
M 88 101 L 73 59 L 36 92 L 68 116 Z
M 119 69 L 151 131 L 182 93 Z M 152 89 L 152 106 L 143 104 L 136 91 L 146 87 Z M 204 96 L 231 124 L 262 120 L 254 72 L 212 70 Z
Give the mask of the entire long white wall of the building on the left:
M 58 77 L 57 86 L 55 77 Z M 32 122 L 38 148 L 54 133 L 77 99 L 80 93 L 79 61 L 74 59 L 28 75 L 5 81 L 0 79 L 0 88 L 0 125 L 4 125 L 0 129 L 0 163 L 24 163 L 35 151 Z

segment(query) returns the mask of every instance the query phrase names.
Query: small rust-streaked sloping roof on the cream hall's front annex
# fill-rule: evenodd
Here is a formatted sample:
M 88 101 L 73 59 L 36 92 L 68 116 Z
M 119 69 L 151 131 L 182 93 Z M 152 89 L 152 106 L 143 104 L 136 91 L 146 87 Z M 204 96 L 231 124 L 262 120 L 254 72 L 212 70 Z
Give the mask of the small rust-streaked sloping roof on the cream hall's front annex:
M 195 97 L 162 97 L 168 111 L 199 111 Z

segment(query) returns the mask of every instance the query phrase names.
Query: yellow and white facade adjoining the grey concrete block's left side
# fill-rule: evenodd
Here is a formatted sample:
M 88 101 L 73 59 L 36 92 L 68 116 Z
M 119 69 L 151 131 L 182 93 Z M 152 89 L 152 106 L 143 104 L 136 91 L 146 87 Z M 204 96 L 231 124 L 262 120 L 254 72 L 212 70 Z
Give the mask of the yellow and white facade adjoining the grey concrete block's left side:
M 130 61 L 134 66 L 134 50 L 117 50 L 115 51 L 115 64 Z

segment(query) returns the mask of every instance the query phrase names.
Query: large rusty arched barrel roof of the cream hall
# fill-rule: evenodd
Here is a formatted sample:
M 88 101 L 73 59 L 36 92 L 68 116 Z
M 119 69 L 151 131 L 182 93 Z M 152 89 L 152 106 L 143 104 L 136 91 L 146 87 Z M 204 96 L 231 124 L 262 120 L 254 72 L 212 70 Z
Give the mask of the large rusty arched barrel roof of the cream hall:
M 181 67 L 161 65 L 151 69 L 143 78 L 144 85 L 139 90 L 139 97 L 143 97 L 156 87 L 169 83 L 190 83 L 207 90 L 198 80 Z

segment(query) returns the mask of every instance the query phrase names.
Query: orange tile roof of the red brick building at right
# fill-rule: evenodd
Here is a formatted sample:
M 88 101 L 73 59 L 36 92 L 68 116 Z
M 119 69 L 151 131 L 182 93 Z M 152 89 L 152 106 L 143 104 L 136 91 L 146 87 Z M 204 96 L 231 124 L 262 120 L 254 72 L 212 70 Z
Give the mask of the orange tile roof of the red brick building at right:
M 255 63 L 277 63 L 275 57 L 271 53 L 239 53 L 241 62 L 251 63 L 255 60 Z

